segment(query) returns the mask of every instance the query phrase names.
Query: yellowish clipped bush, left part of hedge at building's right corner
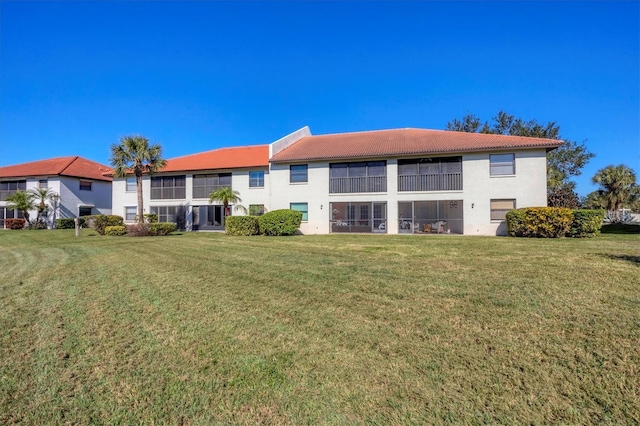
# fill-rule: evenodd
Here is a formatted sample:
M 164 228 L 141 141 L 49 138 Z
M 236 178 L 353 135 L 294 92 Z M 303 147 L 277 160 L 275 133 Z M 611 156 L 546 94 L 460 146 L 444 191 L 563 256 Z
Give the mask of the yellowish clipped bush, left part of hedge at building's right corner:
M 560 238 L 569 233 L 573 212 L 564 207 L 526 207 L 507 213 L 507 230 L 516 237 Z

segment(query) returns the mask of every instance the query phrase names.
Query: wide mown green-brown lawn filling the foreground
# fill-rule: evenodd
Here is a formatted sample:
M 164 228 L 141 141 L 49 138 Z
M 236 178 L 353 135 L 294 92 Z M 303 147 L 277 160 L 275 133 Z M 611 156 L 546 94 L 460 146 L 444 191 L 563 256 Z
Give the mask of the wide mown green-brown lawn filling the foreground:
M 638 423 L 639 243 L 0 232 L 0 424 Z

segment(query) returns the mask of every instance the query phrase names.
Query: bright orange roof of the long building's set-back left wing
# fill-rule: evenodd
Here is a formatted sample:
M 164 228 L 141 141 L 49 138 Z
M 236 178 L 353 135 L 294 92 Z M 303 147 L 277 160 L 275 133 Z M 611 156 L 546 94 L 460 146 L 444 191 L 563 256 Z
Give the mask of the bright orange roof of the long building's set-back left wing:
M 167 160 L 165 172 L 268 167 L 269 145 L 220 148 Z

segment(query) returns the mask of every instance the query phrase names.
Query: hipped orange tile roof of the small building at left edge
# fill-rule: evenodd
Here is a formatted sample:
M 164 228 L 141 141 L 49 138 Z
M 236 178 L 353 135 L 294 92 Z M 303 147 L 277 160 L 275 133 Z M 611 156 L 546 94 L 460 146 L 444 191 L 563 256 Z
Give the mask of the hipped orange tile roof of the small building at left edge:
M 0 178 L 71 176 L 111 181 L 110 177 L 104 175 L 108 170 L 109 166 L 75 155 L 0 167 Z

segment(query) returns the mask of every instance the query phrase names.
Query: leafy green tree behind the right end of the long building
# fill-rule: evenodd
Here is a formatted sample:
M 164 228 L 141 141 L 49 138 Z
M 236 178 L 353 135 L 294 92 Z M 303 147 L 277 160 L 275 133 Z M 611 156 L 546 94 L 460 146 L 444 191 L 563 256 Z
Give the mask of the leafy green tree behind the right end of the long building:
M 526 136 L 531 138 L 562 139 L 560 127 L 555 121 L 546 124 L 537 120 L 524 121 L 515 118 L 504 111 L 499 111 L 493 117 L 493 122 L 480 124 L 480 119 L 473 114 L 465 115 L 462 120 L 447 123 L 447 130 L 471 133 L 491 133 L 497 135 Z M 595 154 L 590 152 L 585 143 L 578 144 L 565 140 L 557 149 L 547 154 L 547 189 L 571 190 L 575 188 L 575 182 L 570 179 L 582 173 L 582 168 L 593 158 Z

